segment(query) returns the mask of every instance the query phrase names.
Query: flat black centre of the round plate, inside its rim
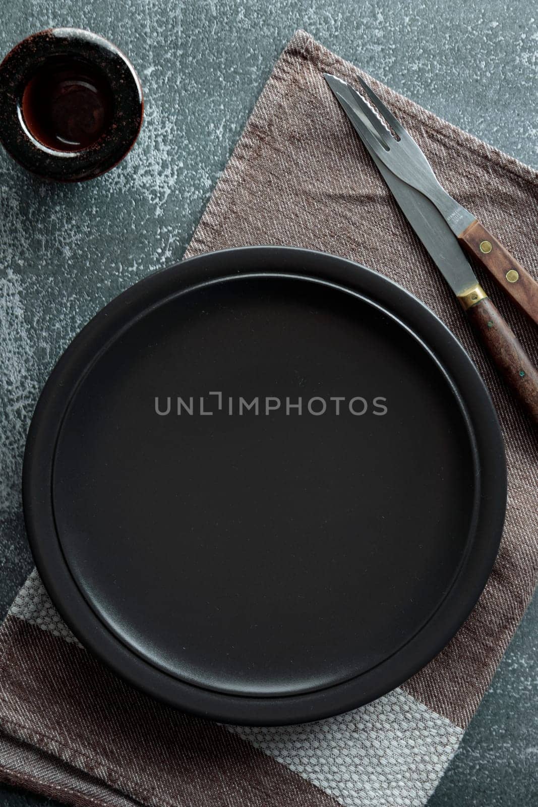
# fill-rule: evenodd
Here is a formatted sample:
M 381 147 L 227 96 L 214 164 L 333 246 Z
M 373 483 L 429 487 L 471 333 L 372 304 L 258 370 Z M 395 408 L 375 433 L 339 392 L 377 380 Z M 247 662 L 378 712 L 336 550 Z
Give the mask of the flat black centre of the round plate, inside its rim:
M 469 491 L 431 354 L 357 295 L 277 274 L 198 287 L 123 331 L 77 388 L 53 477 L 102 621 L 177 679 L 263 696 L 406 644 L 457 575 Z

